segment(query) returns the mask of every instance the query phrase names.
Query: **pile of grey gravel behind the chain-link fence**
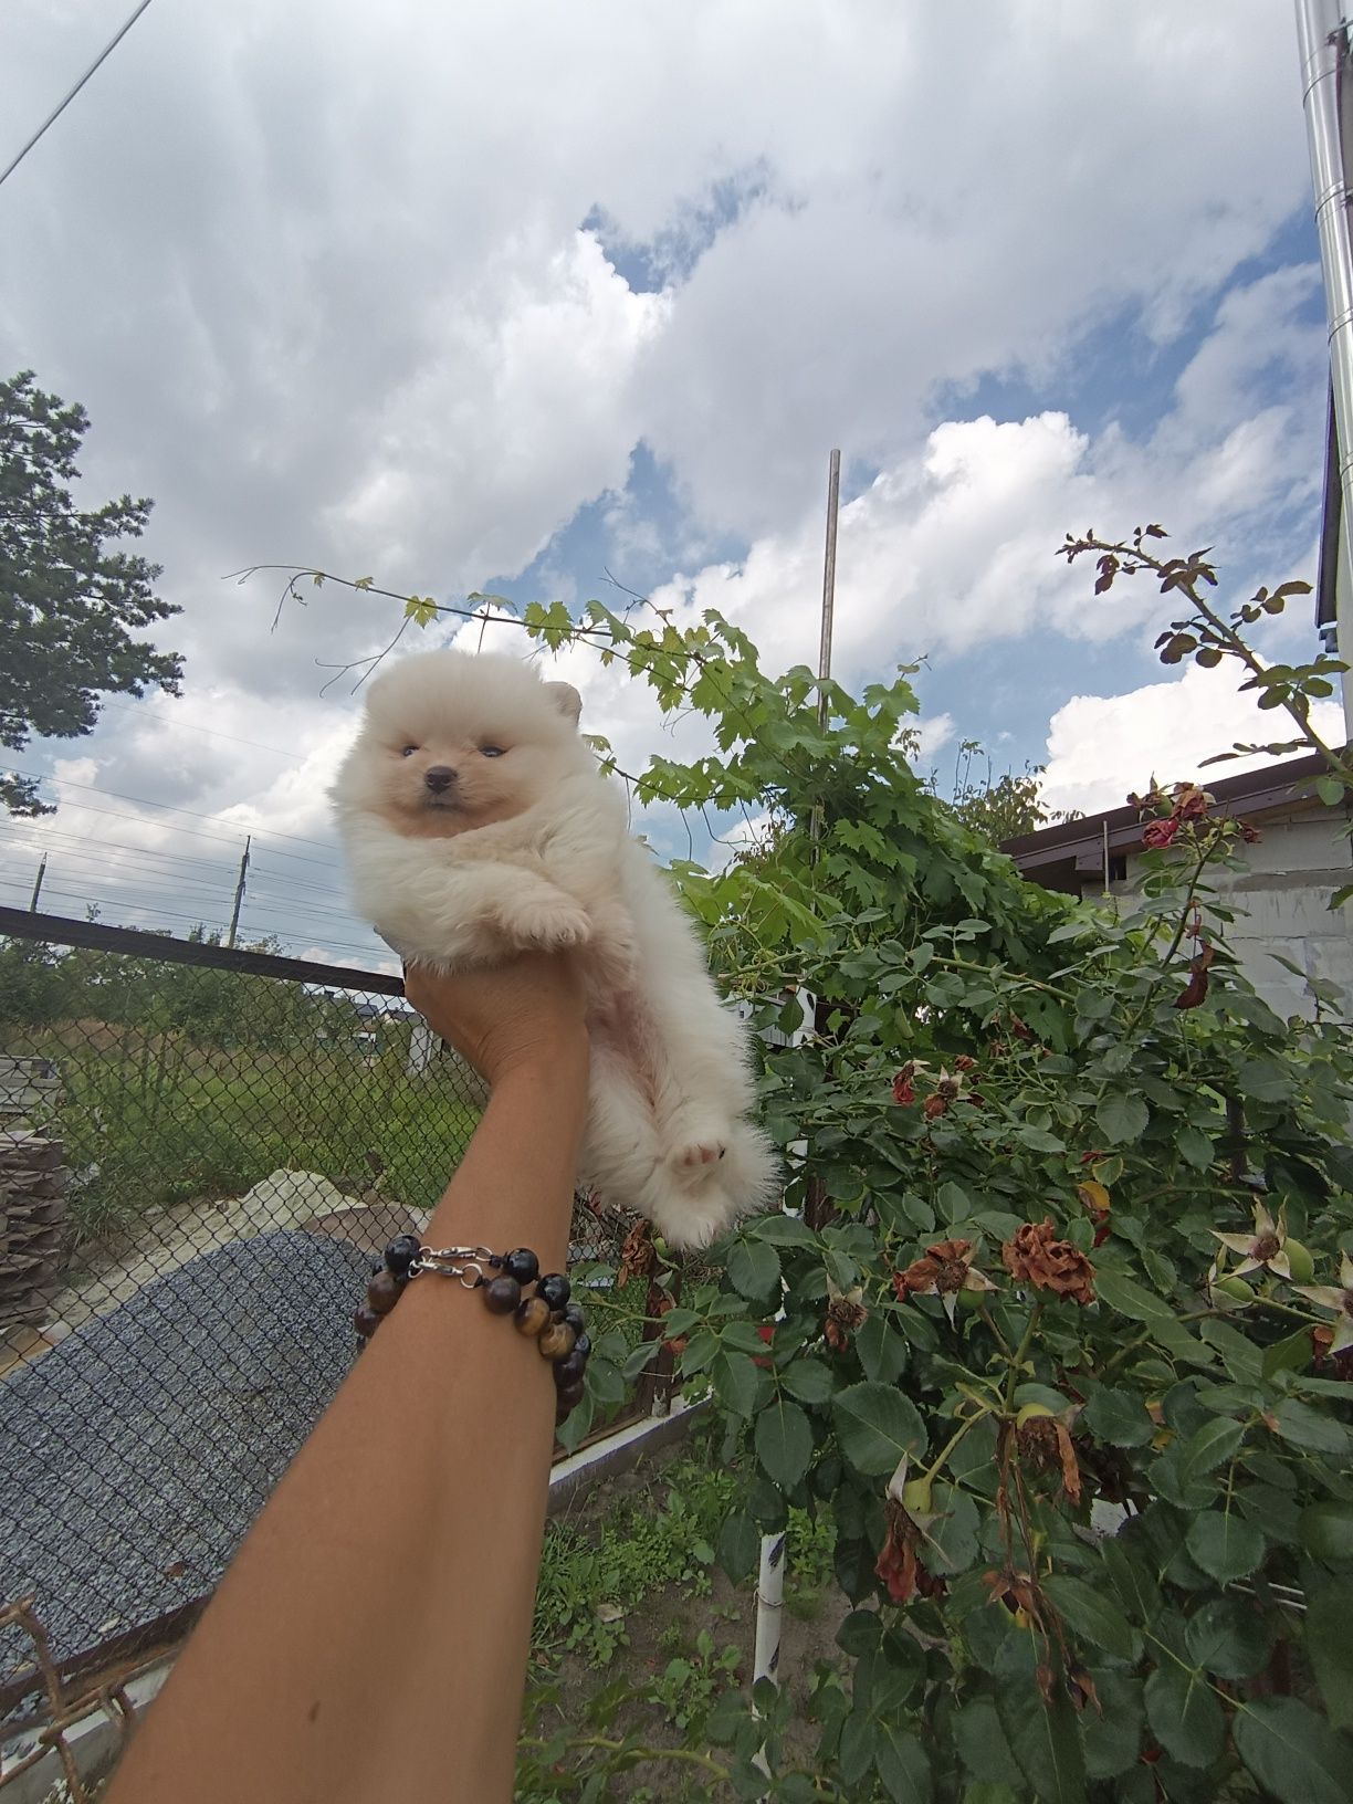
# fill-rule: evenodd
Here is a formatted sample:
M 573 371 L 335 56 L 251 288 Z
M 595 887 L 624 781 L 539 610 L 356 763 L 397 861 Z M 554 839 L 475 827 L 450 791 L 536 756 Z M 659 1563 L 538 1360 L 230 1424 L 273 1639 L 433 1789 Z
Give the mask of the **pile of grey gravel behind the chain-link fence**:
M 0 1600 L 58 1658 L 209 1591 L 352 1364 L 354 1247 L 202 1254 L 0 1385 Z M 25 1658 L 0 1636 L 0 1680 Z

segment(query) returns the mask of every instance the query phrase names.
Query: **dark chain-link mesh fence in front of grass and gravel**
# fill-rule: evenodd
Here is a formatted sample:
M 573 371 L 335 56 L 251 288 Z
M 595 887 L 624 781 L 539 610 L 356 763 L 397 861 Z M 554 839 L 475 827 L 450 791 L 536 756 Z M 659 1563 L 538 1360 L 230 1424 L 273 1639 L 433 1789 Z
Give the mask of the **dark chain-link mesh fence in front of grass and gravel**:
M 0 909 L 0 1604 L 58 1669 L 211 1591 L 480 1106 L 397 976 Z

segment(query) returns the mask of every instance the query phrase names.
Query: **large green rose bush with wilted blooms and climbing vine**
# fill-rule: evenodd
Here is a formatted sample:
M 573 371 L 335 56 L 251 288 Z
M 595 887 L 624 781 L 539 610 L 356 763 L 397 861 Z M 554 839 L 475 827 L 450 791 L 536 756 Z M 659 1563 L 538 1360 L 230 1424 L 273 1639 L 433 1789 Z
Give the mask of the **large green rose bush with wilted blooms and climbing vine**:
M 1068 556 L 1194 603 L 1209 566 L 1146 538 Z M 1198 606 L 1165 653 L 1239 657 Z M 673 873 L 759 1026 L 817 999 L 808 1039 L 765 1052 L 787 1212 L 684 1286 L 666 1248 L 630 1248 L 747 1474 L 722 1564 L 747 1578 L 790 1508 L 826 1514 L 855 1606 L 848 1676 L 814 1687 L 812 1770 L 763 1683 L 714 1708 L 702 1782 L 790 1804 L 1349 1799 L 1353 1057 L 1331 985 L 1283 1021 L 1227 949 L 1214 875 L 1247 824 L 1153 781 L 1137 893 L 1077 904 L 911 772 L 907 671 L 859 696 L 772 678 L 714 613 L 523 624 L 709 718 L 718 750 L 651 759 L 637 796 L 769 815 L 754 855 Z M 1301 722 L 1328 667 L 1256 682 Z M 594 1339 L 606 1402 L 655 1346 Z M 603 1799 L 653 1750 L 550 1752 L 559 1797 Z

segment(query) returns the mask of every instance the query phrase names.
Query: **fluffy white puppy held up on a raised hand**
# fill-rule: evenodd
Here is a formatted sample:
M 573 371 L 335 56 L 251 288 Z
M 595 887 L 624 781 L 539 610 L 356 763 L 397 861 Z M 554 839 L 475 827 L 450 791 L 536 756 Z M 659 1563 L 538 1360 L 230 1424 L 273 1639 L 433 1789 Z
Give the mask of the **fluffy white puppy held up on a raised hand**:
M 592 1079 L 584 1182 L 700 1247 L 776 1189 L 745 1118 L 747 1046 L 581 700 L 511 657 L 429 651 L 366 691 L 332 797 L 357 909 L 408 962 L 456 971 L 579 947 Z

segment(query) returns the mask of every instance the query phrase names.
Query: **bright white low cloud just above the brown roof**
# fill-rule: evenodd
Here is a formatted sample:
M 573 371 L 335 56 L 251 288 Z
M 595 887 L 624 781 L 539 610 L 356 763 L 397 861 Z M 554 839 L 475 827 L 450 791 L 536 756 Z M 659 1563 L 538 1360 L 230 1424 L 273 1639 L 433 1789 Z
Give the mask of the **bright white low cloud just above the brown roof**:
M 1234 743 L 1293 736 L 1286 714 L 1261 711 L 1254 693 L 1241 695 L 1238 684 L 1225 666 L 1205 671 L 1191 664 L 1182 676 L 1128 695 L 1072 696 L 1048 729 L 1048 806 L 1099 814 L 1120 808 L 1129 790 L 1144 792 L 1153 776 L 1162 783 L 1216 781 L 1270 763 L 1268 754 L 1257 754 L 1203 770 L 1203 759 Z M 1312 725 L 1326 743 L 1340 743 L 1342 707 L 1313 704 Z

